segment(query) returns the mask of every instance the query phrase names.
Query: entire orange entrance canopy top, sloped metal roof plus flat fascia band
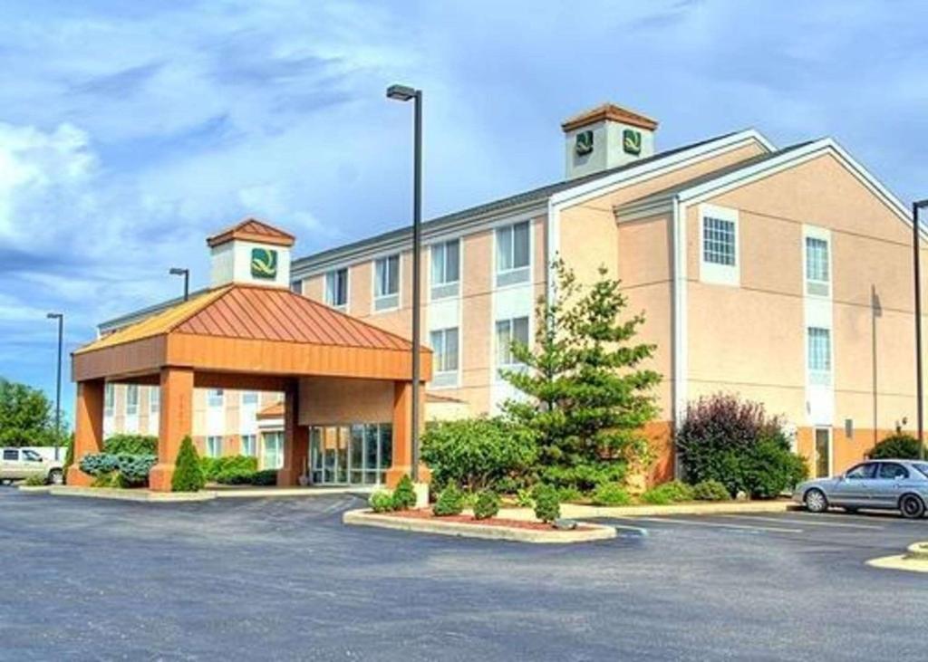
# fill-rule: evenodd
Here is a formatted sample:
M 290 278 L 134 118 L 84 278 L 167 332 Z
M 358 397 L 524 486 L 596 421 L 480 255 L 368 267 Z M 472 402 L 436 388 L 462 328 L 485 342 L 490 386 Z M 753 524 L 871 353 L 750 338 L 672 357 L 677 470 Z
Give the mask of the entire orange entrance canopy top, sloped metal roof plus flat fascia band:
M 408 378 L 412 343 L 288 289 L 219 287 L 74 351 L 73 378 L 150 375 L 165 365 L 273 376 Z M 421 378 L 431 378 L 422 350 Z

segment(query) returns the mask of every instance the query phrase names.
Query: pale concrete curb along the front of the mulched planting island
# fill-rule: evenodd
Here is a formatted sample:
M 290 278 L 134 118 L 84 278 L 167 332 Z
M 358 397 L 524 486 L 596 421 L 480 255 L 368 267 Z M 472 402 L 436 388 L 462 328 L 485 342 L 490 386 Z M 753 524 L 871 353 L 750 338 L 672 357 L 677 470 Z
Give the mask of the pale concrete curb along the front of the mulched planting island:
M 539 531 L 528 528 L 507 528 L 486 524 L 441 522 L 433 519 L 411 519 L 388 515 L 373 515 L 369 508 L 350 510 L 342 515 L 342 524 L 355 527 L 392 528 L 413 533 L 432 533 L 458 538 L 480 538 L 487 541 L 515 541 L 542 544 L 570 544 L 572 542 L 605 541 L 616 537 L 614 527 L 584 524 L 588 527 L 574 531 Z

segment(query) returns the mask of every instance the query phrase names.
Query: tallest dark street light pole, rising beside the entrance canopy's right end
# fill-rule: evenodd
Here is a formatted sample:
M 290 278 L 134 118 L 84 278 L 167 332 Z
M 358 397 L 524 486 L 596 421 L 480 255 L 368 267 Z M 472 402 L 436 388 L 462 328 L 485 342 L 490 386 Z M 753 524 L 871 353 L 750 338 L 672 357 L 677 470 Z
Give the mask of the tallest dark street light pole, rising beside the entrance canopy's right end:
M 422 91 L 406 85 L 391 85 L 387 97 L 414 102 L 413 201 L 412 201 L 412 479 L 419 481 L 419 361 L 421 347 L 421 256 L 422 251 Z

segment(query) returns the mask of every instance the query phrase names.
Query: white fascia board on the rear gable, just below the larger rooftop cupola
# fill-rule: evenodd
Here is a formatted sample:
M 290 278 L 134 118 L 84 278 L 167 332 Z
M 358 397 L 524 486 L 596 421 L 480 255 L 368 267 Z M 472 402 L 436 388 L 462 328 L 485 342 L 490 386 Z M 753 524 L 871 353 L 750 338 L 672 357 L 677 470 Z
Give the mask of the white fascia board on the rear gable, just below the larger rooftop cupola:
M 661 174 L 664 171 L 674 170 L 688 161 L 698 162 L 702 159 L 714 157 L 720 153 L 737 149 L 751 142 L 759 143 L 761 146 L 764 146 L 768 152 L 776 151 L 776 147 L 773 146 L 763 134 L 760 134 L 760 132 L 754 129 L 748 129 L 747 131 L 740 131 L 737 134 L 728 135 L 725 138 L 719 138 L 705 145 L 683 150 L 678 154 L 665 157 L 664 159 L 658 159 L 653 163 L 646 163 L 640 168 L 631 168 L 624 172 L 616 172 L 609 177 L 603 177 L 592 182 L 587 182 L 586 184 L 573 186 L 552 195 L 551 200 L 554 204 L 559 206 L 567 206 L 568 203 L 578 204 L 589 197 L 597 197 L 604 193 L 608 193 L 612 188 L 621 185 L 632 185 L 639 180 L 650 179 L 656 174 Z

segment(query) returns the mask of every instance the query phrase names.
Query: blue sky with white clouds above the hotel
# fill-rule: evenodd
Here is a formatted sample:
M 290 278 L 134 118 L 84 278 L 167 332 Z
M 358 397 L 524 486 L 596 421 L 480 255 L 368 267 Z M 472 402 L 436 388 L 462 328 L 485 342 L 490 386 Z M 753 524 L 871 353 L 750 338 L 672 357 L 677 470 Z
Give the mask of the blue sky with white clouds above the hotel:
M 890 8 L 891 7 L 891 8 Z M 0 375 L 54 390 L 95 324 L 207 280 L 245 214 L 297 254 L 408 223 L 425 90 L 425 209 L 561 178 L 559 122 L 612 100 L 658 148 L 753 126 L 831 135 L 928 197 L 919 2 L 32 0 L 0 6 Z M 71 408 L 72 387 L 65 387 Z

